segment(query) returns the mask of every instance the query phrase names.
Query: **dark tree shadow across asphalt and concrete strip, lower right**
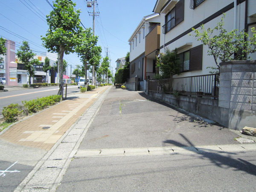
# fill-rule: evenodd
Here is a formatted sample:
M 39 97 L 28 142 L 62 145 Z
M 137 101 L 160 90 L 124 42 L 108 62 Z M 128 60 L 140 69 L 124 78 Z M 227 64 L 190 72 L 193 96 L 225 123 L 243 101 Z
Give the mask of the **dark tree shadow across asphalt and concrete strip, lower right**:
M 193 143 L 190 142 L 183 134 L 180 134 L 181 137 L 183 137 L 184 140 L 186 140 L 191 146 L 194 146 Z M 173 144 L 175 146 L 182 146 L 182 143 L 179 143 L 174 140 L 166 140 L 164 143 Z M 191 147 L 184 147 L 184 149 L 188 151 L 193 151 Z M 197 148 L 195 148 L 198 150 Z M 194 149 L 194 150 L 195 150 Z M 195 152 L 195 151 L 193 151 Z M 243 159 L 234 159 L 231 157 L 231 154 L 237 154 L 235 152 L 220 152 L 215 150 L 204 150 L 200 148 L 200 152 L 198 153 L 201 155 L 202 159 L 209 159 L 212 163 L 214 163 L 216 166 L 221 167 L 223 169 L 233 168 L 234 171 L 243 171 L 247 172 L 250 175 L 256 176 L 256 165 L 243 160 Z M 227 156 L 223 154 L 228 154 Z

